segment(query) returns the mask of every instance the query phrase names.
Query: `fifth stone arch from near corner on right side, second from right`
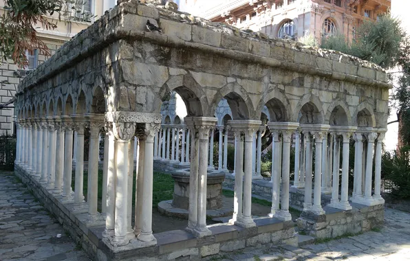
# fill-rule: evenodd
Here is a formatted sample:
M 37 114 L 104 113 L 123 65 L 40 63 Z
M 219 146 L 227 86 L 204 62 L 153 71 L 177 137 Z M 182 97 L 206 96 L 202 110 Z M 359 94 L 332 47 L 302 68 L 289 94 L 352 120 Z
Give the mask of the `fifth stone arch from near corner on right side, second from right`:
M 352 115 L 345 101 L 336 100 L 330 104 L 325 115 L 325 123 L 338 126 L 352 126 Z

